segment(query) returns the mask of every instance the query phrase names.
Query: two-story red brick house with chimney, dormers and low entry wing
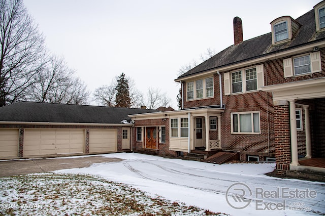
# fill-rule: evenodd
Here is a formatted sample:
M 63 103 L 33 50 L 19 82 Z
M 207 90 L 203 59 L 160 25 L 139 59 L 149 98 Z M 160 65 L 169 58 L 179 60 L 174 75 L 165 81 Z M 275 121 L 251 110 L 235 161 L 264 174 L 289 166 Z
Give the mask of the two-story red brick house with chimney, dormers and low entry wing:
M 325 158 L 325 1 L 271 32 L 234 45 L 175 79 L 182 109 L 130 115 L 134 150 L 180 156 L 195 149 L 239 152 L 241 160 L 274 161 L 278 174 Z

